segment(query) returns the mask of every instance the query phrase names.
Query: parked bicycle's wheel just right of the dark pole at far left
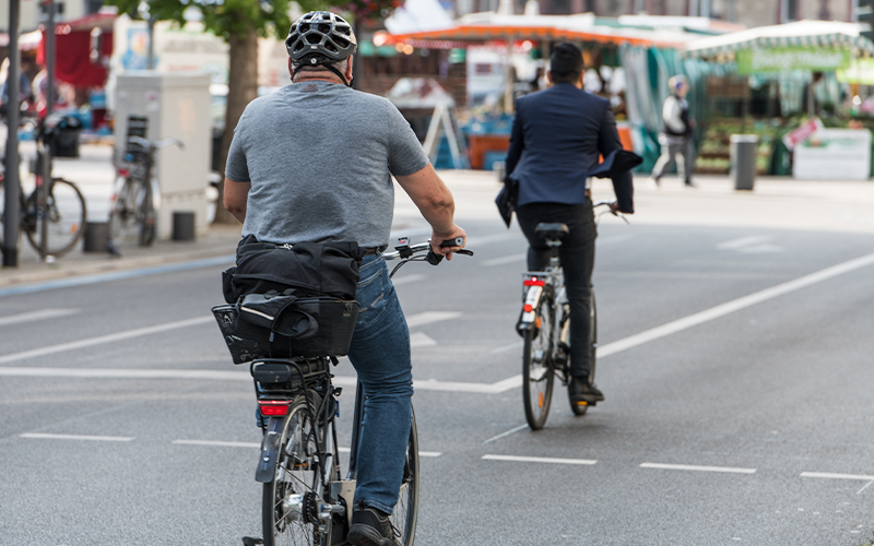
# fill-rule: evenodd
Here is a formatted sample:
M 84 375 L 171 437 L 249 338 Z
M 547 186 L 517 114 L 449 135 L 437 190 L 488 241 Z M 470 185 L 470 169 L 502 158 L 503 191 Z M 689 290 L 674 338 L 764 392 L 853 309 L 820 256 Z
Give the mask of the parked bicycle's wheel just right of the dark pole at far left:
M 37 214 L 36 229 L 27 230 L 27 239 L 35 249 L 40 249 L 43 221 L 48 217 L 46 252 L 49 256 L 63 256 L 75 247 L 85 233 L 85 198 L 74 183 L 63 178 L 52 178 L 46 206 L 48 213 Z

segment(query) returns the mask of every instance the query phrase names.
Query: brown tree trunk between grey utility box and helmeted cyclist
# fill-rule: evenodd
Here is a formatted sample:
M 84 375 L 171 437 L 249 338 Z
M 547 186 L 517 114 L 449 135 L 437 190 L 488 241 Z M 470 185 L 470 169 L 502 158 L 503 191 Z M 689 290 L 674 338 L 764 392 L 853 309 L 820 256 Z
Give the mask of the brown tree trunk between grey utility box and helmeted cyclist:
M 258 97 L 258 35 L 250 27 L 245 36 L 231 36 L 229 63 L 227 71 L 227 110 L 225 114 L 225 132 L 222 136 L 222 153 L 218 167 L 222 174 L 227 163 L 227 151 L 234 139 L 234 129 L 246 106 Z M 222 205 L 224 197 L 224 177 L 218 188 L 218 207 L 215 211 L 216 224 L 236 224 L 237 219 Z

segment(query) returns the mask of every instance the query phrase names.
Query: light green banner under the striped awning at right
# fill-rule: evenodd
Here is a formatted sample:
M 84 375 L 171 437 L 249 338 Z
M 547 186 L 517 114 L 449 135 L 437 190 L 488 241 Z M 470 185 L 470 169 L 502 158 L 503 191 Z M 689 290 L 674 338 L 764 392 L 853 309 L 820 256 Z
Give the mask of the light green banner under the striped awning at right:
M 850 58 L 849 49 L 814 47 L 741 49 L 735 54 L 740 74 L 793 69 L 834 71 L 849 67 Z

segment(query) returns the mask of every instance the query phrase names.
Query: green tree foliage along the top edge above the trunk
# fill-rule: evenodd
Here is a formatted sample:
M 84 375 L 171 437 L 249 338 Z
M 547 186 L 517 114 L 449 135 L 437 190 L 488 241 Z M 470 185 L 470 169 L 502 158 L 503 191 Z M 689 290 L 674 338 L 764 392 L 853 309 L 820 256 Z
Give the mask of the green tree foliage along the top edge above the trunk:
M 118 8 L 119 13 L 128 13 L 139 19 L 141 0 L 106 0 Z M 291 0 L 147 0 L 149 12 L 156 21 L 175 21 L 185 24 L 185 11 L 193 8 L 203 14 L 203 24 L 209 31 L 225 40 L 231 36 L 243 37 L 249 28 L 259 36 L 275 35 L 284 38 L 292 21 L 288 19 Z M 322 0 L 298 0 L 302 9 L 324 9 Z

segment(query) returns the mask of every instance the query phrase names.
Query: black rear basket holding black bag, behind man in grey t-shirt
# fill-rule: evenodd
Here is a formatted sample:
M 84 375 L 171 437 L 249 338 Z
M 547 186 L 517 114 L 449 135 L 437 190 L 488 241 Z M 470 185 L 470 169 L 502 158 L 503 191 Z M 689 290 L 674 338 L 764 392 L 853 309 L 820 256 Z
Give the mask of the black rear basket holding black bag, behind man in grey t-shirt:
M 349 353 L 358 302 L 355 242 L 276 245 L 245 237 L 212 309 L 234 364 Z

